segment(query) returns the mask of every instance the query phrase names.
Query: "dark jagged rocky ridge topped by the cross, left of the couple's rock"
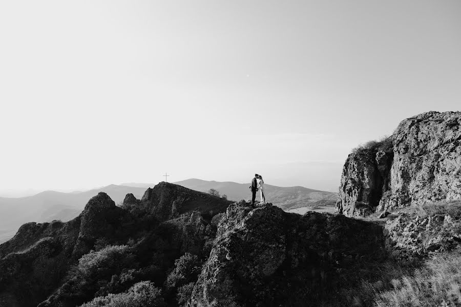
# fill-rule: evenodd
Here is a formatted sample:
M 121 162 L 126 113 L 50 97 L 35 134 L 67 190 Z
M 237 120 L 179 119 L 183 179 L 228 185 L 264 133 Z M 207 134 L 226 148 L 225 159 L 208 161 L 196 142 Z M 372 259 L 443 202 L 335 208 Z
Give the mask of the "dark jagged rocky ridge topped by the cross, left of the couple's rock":
M 72 268 L 80 265 L 83 255 L 87 258 L 93 255 L 94 250 L 95 257 L 102 257 L 97 251 L 107 246 L 114 246 L 115 250 L 117 246 L 125 246 L 121 250 L 128 252 L 120 257 L 126 259 L 121 258 L 120 263 L 133 267 L 121 265 L 123 270 L 138 270 L 148 276 L 154 270 L 161 284 L 181 254 L 190 252 L 200 257 L 209 254 L 216 235 L 216 226 L 210 220 L 215 214 L 225 212 L 230 203 L 213 195 L 160 183 L 149 188 L 142 200 L 128 194 L 121 207 L 101 192 L 72 221 L 27 223 L 12 239 L 0 245 L 0 305 L 35 307 L 43 301 L 40 306 L 74 307 L 91 300 L 98 291 L 106 291 L 101 285 L 119 276 L 120 268 L 108 267 L 109 276 L 98 273 L 96 278 L 84 278 Z M 153 258 L 158 263 L 153 264 Z

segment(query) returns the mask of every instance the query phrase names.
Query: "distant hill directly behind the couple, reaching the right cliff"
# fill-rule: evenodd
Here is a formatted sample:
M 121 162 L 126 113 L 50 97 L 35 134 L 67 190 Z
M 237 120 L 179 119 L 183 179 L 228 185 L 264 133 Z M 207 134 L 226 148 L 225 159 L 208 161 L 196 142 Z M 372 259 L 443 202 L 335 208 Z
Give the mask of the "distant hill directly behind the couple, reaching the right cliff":
M 207 192 L 209 189 L 216 189 L 220 192 L 221 195 L 226 194 L 227 199 L 230 201 L 251 199 L 251 192 L 248 188 L 250 186 L 250 183 L 236 183 L 230 181 L 218 182 L 200 179 L 187 179 L 175 182 L 175 184 L 201 192 Z M 130 185 L 135 187 L 153 186 L 153 184 L 147 183 L 123 183 L 123 185 Z M 328 207 L 333 209 L 338 196 L 338 193 L 313 190 L 300 186 L 278 187 L 265 184 L 264 187 L 266 189 L 266 201 L 273 203 L 274 205 L 286 211 L 306 207 L 309 209 L 318 207 Z M 259 200 L 259 192 L 257 193 L 257 200 Z M 298 211 L 299 210 L 297 210 L 296 212 Z

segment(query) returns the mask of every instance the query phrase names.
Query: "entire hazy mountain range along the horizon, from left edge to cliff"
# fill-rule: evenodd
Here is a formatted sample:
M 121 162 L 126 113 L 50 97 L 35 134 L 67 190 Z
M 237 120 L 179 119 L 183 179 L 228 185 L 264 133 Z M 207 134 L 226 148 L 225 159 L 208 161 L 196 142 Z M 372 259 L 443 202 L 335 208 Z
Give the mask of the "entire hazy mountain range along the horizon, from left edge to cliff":
M 188 179 L 175 184 L 189 189 L 207 192 L 216 189 L 220 194 L 226 194 L 228 200 L 239 201 L 251 198 L 248 184 L 235 182 L 204 181 Z M 89 191 L 75 191 L 70 193 L 44 191 L 32 196 L 22 198 L 0 198 L 0 243 L 11 238 L 20 225 L 27 222 L 51 222 L 53 220 L 69 221 L 80 214 L 85 204 L 98 192 L 107 193 L 116 203 L 123 201 L 128 193 L 140 199 L 148 187 L 148 183 L 123 183 L 109 185 Z M 267 202 L 274 203 L 282 209 L 303 213 L 307 209 L 332 208 L 336 202 L 337 193 L 312 190 L 304 187 L 277 187 L 265 185 Z M 259 199 L 259 193 L 257 200 Z

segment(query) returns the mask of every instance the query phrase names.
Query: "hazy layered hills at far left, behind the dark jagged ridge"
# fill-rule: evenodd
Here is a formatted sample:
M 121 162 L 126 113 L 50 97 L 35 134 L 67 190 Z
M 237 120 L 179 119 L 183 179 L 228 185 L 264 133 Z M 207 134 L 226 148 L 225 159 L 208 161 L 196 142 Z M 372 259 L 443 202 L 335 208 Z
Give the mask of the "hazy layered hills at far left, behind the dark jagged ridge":
M 122 202 L 128 193 L 140 199 L 145 190 L 140 187 L 109 185 L 84 192 L 44 191 L 22 198 L 0 198 L 0 243 L 12 237 L 19 226 L 26 222 L 71 220 L 80 214 L 88 200 L 99 192 L 107 193 L 117 204 Z

